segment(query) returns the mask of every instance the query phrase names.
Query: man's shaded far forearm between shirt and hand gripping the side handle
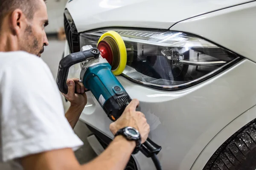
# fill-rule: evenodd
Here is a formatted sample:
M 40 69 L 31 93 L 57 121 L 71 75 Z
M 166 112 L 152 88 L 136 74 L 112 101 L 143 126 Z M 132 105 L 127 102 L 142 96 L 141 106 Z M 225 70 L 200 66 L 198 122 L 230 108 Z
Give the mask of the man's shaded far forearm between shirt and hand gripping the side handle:
M 83 110 L 84 110 L 84 105 L 81 105 L 81 106 L 71 105 L 70 108 L 68 109 L 67 113 L 65 114 L 65 117 L 67 118 L 72 128 L 76 126 L 76 123 L 78 122 L 79 117 Z

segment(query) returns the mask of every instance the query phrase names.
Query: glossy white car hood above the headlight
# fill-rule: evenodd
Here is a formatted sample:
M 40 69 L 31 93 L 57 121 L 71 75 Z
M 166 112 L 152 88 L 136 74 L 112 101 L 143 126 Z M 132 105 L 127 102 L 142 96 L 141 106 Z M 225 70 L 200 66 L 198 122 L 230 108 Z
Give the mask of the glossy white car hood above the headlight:
M 78 32 L 124 26 L 168 29 L 175 23 L 252 0 L 69 0 Z

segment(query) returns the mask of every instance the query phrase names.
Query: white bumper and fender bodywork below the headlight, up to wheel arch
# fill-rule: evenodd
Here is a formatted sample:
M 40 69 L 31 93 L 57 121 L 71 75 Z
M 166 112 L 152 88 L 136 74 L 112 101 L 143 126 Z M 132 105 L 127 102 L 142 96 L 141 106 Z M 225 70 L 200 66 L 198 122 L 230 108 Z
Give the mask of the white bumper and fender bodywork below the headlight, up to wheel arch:
M 140 100 L 139 110 L 151 126 L 149 137 L 163 147 L 158 154 L 163 169 L 189 170 L 214 136 L 256 104 L 256 94 L 252 93 L 256 91 L 255 71 L 256 64 L 244 59 L 218 76 L 176 92 L 158 91 L 122 76 L 117 78 L 131 98 Z M 246 88 L 241 89 L 245 84 Z M 111 120 L 90 92 L 87 96 L 89 103 L 80 120 L 113 139 Z M 140 170 L 154 170 L 151 159 L 142 153 L 134 155 L 134 159 Z

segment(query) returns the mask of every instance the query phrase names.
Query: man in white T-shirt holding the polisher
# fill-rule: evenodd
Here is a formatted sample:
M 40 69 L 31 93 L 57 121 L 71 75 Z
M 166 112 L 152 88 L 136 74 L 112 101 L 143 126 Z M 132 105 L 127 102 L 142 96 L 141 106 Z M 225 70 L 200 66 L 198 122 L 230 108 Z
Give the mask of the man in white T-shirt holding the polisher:
M 65 97 L 71 106 L 64 114 L 55 80 L 39 58 L 48 45 L 47 24 L 44 0 L 0 0 L 0 162 L 12 170 L 124 169 L 137 143 L 122 135 L 93 161 L 80 165 L 76 160 L 73 150 L 82 142 L 72 127 L 87 98 L 84 86 L 70 79 Z M 143 143 L 149 125 L 135 111 L 138 105 L 134 99 L 110 130 L 116 134 L 122 127 L 134 127 Z

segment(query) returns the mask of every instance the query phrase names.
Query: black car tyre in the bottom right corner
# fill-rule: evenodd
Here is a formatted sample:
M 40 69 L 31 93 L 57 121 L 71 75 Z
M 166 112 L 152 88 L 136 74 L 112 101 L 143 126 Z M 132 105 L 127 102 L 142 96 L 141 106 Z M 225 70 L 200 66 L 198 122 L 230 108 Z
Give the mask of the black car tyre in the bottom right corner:
M 222 144 L 203 170 L 256 170 L 255 121 Z

